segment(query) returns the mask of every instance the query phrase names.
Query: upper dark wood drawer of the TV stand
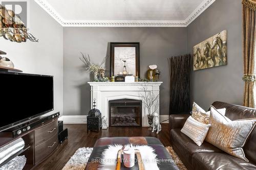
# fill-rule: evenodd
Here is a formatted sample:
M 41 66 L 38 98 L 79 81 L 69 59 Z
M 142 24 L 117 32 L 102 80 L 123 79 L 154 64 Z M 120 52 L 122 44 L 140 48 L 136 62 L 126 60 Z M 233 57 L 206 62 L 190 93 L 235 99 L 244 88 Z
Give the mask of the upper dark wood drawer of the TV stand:
M 56 134 L 58 132 L 58 119 L 55 119 L 53 122 L 50 122 L 49 124 L 45 125 L 44 127 L 40 129 L 35 130 L 35 147 L 37 147 L 39 144 L 46 142 L 50 138 L 52 138 L 54 135 L 58 136 Z

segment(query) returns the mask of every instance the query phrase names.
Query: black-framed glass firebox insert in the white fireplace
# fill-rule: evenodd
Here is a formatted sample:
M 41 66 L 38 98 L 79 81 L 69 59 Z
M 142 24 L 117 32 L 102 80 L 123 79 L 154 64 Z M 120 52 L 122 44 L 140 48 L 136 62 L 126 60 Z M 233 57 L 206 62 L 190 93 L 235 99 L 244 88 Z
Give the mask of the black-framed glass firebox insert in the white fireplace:
M 141 127 L 142 102 L 121 99 L 109 101 L 109 125 L 111 127 Z

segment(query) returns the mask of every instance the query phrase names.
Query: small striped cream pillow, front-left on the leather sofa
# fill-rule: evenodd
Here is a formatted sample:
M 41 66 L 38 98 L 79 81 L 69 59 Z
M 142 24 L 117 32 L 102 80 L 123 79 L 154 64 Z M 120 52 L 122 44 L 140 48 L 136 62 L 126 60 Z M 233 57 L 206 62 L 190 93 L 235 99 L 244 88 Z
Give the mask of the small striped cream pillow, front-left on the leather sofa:
M 203 143 L 210 125 L 205 125 L 189 116 L 181 129 L 181 132 L 192 139 L 199 147 Z

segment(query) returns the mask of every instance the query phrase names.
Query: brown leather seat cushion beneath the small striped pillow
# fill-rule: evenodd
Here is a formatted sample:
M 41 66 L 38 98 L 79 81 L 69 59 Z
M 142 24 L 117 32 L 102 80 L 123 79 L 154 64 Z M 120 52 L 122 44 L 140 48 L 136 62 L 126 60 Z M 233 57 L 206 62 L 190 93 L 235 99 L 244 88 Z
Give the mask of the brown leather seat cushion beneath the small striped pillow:
M 223 152 L 208 142 L 203 142 L 203 144 L 199 147 L 193 140 L 183 134 L 180 130 L 181 129 L 172 129 L 170 131 L 170 141 L 175 148 L 180 150 L 179 153 L 184 153 L 183 156 L 188 162 L 191 163 L 191 158 L 194 153 Z

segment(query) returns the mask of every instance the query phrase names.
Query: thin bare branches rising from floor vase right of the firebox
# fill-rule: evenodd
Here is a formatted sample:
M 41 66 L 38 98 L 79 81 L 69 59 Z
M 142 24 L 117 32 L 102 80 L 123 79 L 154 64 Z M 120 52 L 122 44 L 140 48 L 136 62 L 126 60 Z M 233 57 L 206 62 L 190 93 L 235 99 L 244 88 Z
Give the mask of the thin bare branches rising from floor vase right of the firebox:
M 148 91 L 146 84 L 141 84 L 140 89 L 144 93 L 142 103 L 146 107 L 148 115 L 154 116 L 159 106 L 159 94 L 155 95 L 152 91 Z

